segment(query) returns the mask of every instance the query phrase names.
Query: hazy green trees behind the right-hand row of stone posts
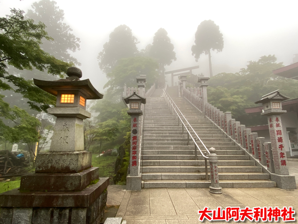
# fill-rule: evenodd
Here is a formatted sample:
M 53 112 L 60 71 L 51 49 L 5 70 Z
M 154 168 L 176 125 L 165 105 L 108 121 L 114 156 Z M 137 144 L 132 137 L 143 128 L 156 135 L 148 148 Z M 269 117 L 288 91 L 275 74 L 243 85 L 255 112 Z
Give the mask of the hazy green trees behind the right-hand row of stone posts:
M 276 76 L 272 70 L 283 67 L 274 55 L 262 56 L 258 61 L 249 61 L 239 73 L 220 73 L 209 80 L 208 102 L 221 111 L 231 111 L 233 118 L 246 125 L 263 124 L 263 119 L 246 114 L 244 108 L 255 107 L 254 102 L 263 95 L 279 89 L 280 92 L 298 98 L 297 80 Z

